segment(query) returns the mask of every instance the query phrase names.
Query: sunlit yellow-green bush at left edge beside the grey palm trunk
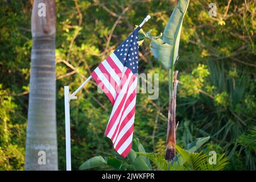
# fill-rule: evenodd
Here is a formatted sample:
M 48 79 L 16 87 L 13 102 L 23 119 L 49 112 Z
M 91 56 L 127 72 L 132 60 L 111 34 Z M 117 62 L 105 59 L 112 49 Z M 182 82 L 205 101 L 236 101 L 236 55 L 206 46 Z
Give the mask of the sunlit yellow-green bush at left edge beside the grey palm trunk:
M 18 110 L 12 102 L 13 97 L 8 96 L 10 90 L 3 90 L 0 84 L 0 170 L 22 170 L 24 168 L 24 142 L 26 125 L 19 122 L 16 115 L 15 122 L 11 116 Z

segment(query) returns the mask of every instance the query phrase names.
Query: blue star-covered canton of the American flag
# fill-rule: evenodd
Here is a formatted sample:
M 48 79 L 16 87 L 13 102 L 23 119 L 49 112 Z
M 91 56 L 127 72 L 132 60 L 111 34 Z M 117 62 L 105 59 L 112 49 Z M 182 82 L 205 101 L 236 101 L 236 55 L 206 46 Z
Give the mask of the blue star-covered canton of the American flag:
M 139 68 L 139 29 L 141 29 L 141 27 L 136 28 L 133 33 L 114 51 L 121 63 L 125 67 L 129 68 L 134 74 L 138 73 Z

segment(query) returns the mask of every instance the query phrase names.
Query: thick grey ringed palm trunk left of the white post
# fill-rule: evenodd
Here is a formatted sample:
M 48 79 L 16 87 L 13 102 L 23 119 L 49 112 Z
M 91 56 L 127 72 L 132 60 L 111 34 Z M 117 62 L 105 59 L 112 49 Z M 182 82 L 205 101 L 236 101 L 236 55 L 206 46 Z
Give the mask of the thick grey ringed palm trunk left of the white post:
M 46 16 L 39 16 L 39 3 Z M 34 0 L 31 31 L 30 95 L 26 138 L 26 170 L 57 170 L 54 0 Z M 43 151 L 43 153 L 39 152 Z M 45 152 L 45 153 L 44 153 Z M 44 154 L 45 164 L 44 164 Z

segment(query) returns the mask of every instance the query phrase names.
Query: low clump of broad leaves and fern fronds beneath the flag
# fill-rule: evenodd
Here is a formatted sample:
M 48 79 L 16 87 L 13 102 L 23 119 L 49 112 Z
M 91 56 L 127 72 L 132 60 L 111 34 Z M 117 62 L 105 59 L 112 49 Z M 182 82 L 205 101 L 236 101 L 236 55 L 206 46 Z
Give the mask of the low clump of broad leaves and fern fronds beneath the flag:
M 164 159 L 163 154 L 147 153 L 144 150 L 141 142 L 138 138 L 133 139 L 133 147 L 127 158 L 118 158 L 117 156 L 108 156 L 103 158 L 102 156 L 94 156 L 84 162 L 79 169 L 105 169 L 105 170 L 119 170 L 119 171 L 149 171 L 152 170 L 151 162 L 160 170 L 220 170 L 226 165 L 226 158 L 224 155 L 220 155 L 217 159 L 218 164 L 216 166 L 209 166 L 205 161 L 207 155 L 203 152 L 196 153 L 196 151 L 205 144 L 210 137 L 197 138 L 195 142 L 189 143 L 187 150 L 176 146 L 179 155 L 172 159 L 171 163 L 168 163 Z M 201 163 L 200 160 L 203 162 Z M 151 161 L 151 162 L 150 162 Z M 191 162 L 192 161 L 192 162 Z

